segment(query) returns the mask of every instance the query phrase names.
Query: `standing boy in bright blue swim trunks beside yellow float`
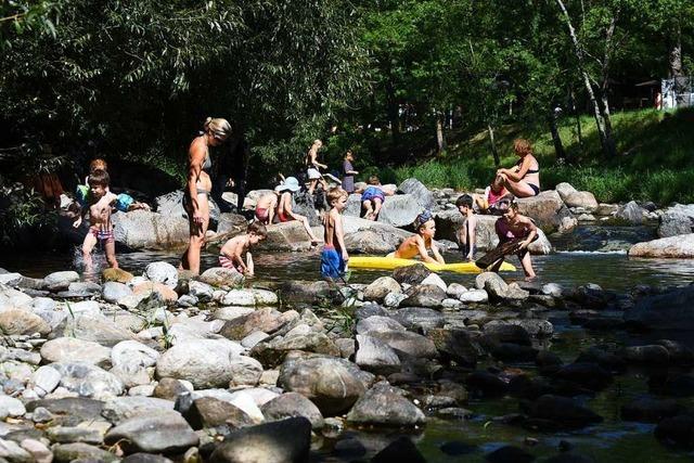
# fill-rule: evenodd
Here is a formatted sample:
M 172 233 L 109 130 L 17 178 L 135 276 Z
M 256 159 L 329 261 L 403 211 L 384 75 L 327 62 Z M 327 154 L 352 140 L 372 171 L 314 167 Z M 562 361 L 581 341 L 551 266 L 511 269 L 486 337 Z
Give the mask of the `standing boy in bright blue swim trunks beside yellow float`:
M 345 247 L 345 231 L 342 213 L 347 207 L 347 192 L 335 187 L 327 192 L 330 213 L 325 218 L 325 247 L 321 253 L 321 275 L 340 278 L 347 268 L 349 255 Z

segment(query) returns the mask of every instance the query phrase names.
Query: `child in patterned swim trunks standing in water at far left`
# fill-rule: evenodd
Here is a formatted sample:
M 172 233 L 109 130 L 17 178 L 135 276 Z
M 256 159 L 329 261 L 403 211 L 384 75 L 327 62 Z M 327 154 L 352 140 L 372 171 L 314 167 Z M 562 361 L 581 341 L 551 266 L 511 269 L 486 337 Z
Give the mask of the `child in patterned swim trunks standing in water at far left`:
M 111 181 L 105 170 L 94 170 L 87 179 L 89 183 L 89 232 L 82 243 L 82 256 L 87 272 L 92 270 L 91 252 L 101 242 L 106 253 L 106 260 L 114 269 L 118 268 L 116 260 L 116 243 L 111 223 L 111 206 L 118 196 L 108 191 Z

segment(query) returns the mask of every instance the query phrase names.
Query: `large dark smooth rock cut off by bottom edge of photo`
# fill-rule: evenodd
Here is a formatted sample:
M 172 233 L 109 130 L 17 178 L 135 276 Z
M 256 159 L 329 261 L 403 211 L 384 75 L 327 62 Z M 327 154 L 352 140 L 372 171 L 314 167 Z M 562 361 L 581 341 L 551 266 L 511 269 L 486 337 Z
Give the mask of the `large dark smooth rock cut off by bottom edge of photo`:
M 215 449 L 210 462 L 300 462 L 308 459 L 310 445 L 311 423 L 292 417 L 231 433 Z

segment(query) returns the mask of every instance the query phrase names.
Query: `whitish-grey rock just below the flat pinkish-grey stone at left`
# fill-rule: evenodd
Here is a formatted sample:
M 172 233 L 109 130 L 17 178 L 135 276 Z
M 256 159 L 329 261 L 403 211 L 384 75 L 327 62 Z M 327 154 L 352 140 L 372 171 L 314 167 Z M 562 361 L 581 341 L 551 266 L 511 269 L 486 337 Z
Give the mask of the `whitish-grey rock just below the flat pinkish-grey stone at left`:
M 89 363 L 51 363 L 61 374 L 61 386 L 81 397 L 105 399 L 123 394 L 123 383 L 114 374 Z

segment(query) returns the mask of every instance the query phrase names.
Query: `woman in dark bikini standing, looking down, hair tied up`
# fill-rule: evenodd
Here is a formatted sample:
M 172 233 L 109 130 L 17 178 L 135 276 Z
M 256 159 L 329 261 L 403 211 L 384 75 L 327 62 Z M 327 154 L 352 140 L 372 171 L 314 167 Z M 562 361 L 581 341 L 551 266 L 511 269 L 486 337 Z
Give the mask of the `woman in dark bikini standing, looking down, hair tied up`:
M 209 193 L 213 182 L 209 171 L 213 162 L 209 146 L 223 143 L 231 134 L 231 125 L 227 119 L 208 117 L 203 133 L 191 143 L 188 150 L 188 182 L 183 192 L 183 207 L 188 213 L 190 242 L 181 258 L 181 268 L 200 273 L 200 253 L 205 243 L 205 232 L 209 224 Z

